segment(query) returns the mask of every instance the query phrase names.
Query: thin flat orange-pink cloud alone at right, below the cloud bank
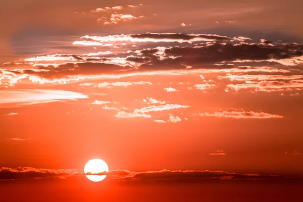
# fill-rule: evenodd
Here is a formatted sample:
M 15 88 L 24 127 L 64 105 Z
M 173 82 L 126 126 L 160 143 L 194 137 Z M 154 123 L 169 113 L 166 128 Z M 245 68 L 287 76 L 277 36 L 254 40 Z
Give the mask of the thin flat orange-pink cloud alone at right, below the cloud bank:
M 200 114 L 205 117 L 220 117 L 220 118 L 234 118 L 234 119 L 272 119 L 283 118 L 277 114 L 268 114 L 262 111 L 244 111 L 243 109 L 229 109 L 227 111 L 220 110 L 219 112 L 206 112 Z

